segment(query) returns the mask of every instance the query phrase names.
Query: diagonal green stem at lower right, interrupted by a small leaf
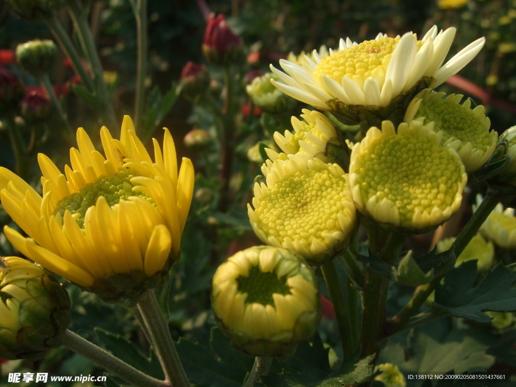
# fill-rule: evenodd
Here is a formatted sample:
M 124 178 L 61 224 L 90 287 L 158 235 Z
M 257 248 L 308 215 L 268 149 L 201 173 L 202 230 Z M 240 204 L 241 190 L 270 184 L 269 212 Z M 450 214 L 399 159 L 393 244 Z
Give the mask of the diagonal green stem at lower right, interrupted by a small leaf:
M 453 248 L 455 255 L 459 256 L 470 240 L 477 234 L 480 226 L 486 221 L 487 217 L 493 211 L 494 207 L 498 204 L 498 199 L 490 194 L 488 191 L 486 197 L 482 200 L 476 211 L 473 213 L 469 221 L 455 238 Z M 428 296 L 434 291 L 436 286 L 441 282 L 443 276 L 434 278 L 430 283 L 422 285 L 416 289 L 416 292 L 410 299 L 410 301 L 403 307 L 399 313 L 394 316 L 389 323 L 389 334 L 396 333 L 399 330 L 404 329 L 404 325 L 408 319 L 417 313 L 421 308 L 421 305 L 426 301 Z

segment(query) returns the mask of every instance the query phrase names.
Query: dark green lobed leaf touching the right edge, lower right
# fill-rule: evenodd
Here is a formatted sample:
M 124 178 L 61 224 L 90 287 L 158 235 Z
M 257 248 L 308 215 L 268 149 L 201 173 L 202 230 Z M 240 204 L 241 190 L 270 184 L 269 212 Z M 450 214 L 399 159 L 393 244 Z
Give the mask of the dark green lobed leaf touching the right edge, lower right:
M 516 311 L 516 273 L 498 264 L 477 286 L 476 260 L 464 262 L 451 270 L 444 284 L 436 288 L 436 304 L 457 317 L 489 322 L 484 311 Z

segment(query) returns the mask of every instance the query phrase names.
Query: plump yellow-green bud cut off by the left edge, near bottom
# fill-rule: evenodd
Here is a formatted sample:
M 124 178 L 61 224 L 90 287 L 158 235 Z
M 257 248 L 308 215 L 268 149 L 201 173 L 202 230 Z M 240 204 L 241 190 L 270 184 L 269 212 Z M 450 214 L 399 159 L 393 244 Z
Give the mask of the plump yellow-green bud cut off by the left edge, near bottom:
M 40 266 L 0 258 L 0 358 L 40 359 L 70 325 L 66 290 Z

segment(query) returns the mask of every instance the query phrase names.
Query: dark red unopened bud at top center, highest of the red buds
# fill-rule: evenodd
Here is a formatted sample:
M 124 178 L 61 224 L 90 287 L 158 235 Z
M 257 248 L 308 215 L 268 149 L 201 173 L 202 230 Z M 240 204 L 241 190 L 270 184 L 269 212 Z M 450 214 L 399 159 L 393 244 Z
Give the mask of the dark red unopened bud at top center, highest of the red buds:
M 223 14 L 209 15 L 202 41 L 202 52 L 208 62 L 222 65 L 240 58 L 242 39 L 233 33 Z

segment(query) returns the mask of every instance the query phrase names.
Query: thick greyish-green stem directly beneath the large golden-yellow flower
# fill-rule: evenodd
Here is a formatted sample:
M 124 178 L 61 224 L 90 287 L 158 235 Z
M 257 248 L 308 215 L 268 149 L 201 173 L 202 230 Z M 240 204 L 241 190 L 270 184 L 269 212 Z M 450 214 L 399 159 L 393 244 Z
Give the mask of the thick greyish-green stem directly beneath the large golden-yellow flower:
M 159 309 L 154 291 L 151 289 L 144 293 L 137 306 L 151 335 L 152 345 L 166 380 L 170 381 L 173 387 L 189 387 L 190 382 L 175 349 L 167 321 Z

